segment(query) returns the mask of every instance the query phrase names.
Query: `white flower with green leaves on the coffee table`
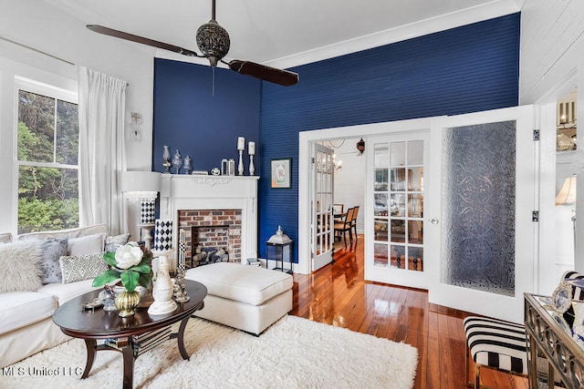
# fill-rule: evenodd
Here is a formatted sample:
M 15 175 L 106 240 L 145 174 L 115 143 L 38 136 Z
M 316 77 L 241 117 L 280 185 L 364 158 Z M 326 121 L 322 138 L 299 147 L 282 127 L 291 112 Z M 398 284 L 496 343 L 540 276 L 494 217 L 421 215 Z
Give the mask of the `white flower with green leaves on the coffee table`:
M 110 269 L 99 274 L 94 280 L 93 286 L 101 286 L 116 279 L 126 291 L 133 292 L 140 284 L 148 288 L 151 283 L 151 255 L 144 255 L 141 247 L 135 241 L 130 241 L 121 246 L 116 252 L 106 252 L 103 259 L 110 265 Z

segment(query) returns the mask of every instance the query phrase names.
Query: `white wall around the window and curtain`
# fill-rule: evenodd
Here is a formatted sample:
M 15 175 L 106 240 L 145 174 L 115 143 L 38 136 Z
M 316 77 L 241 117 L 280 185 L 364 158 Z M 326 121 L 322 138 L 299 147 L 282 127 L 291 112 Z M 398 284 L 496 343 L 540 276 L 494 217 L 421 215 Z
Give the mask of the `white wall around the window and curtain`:
M 51 57 L 57 56 L 128 81 L 127 110 L 141 113 L 143 124 L 141 142 L 128 142 L 127 167 L 150 170 L 154 51 L 93 33 L 86 28 L 90 20 L 79 21 L 42 1 L 0 0 L 0 9 L 0 231 L 16 234 L 14 77 L 76 91 L 76 67 Z

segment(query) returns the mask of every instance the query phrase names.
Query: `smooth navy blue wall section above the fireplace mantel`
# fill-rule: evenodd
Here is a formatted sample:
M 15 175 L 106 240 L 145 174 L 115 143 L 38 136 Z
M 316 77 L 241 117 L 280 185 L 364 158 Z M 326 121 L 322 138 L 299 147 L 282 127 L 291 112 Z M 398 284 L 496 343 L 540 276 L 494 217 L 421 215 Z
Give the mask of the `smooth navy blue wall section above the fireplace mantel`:
M 235 159 L 237 169 L 237 137 L 245 137 L 248 174 L 247 142 L 258 142 L 262 82 L 214 71 L 213 77 L 211 67 L 154 58 L 153 171 L 164 170 L 164 145 L 172 155 L 178 149 L 183 159 L 190 156 L 194 170 L 221 168 L 221 159 Z

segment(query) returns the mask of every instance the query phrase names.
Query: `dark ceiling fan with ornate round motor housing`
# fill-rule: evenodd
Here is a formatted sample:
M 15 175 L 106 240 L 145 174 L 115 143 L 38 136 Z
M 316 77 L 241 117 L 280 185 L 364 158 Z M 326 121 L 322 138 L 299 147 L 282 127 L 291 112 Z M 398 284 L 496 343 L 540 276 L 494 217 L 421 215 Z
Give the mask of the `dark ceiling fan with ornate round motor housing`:
M 88 25 L 87 27 L 96 33 L 106 36 L 115 36 L 120 39 L 126 39 L 131 42 L 140 43 L 153 47 L 169 50 L 174 53 L 182 54 L 183 56 L 198 56 L 207 58 L 212 67 L 216 67 L 219 62 L 227 65 L 231 70 L 242 75 L 259 78 L 264 81 L 272 82 L 284 87 L 290 87 L 297 84 L 298 74 L 287 70 L 276 69 L 275 67 L 266 67 L 266 65 L 258 64 L 251 61 L 244 61 L 240 59 L 233 59 L 229 62 L 224 61 L 224 56 L 227 55 L 230 46 L 229 34 L 224 27 L 219 26 L 215 20 L 215 0 L 212 3 L 211 20 L 200 26 L 196 34 L 196 42 L 202 54 L 198 54 L 192 50 L 173 46 L 157 40 L 149 39 L 143 36 L 135 36 L 133 34 L 125 33 L 123 31 L 114 30 L 113 28 Z

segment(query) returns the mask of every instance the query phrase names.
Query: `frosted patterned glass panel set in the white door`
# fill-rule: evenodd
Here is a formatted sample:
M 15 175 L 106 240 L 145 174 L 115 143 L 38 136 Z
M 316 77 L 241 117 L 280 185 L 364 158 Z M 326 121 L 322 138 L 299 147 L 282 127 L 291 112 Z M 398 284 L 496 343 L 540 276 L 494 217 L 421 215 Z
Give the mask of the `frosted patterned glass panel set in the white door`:
M 447 128 L 442 282 L 515 295 L 516 122 Z

